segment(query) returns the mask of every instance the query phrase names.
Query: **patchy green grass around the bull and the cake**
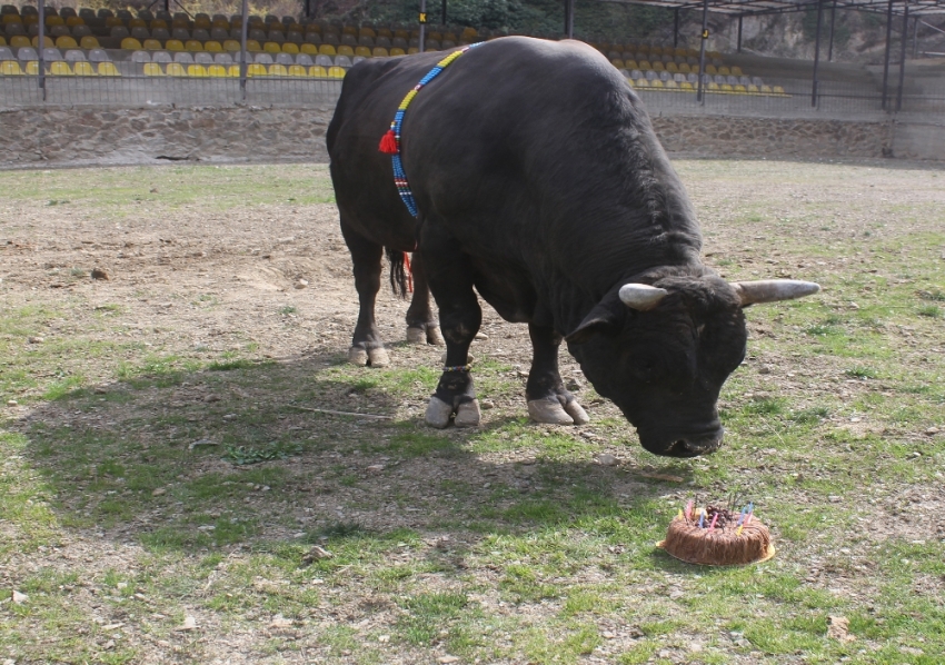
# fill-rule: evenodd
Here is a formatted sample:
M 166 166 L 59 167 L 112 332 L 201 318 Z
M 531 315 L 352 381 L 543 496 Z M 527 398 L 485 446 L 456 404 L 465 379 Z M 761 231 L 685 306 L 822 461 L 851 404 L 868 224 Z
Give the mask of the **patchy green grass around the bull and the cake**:
M 945 429 L 932 314 L 945 234 L 922 204 L 941 202 L 935 172 L 676 166 L 726 278 L 793 267 L 824 286 L 747 311 L 748 358 L 719 400 L 726 445 L 707 458 L 645 453 L 606 404 L 583 430 L 499 407 L 479 429 L 430 430 L 405 405 L 434 389 L 435 363 L 398 367 L 408 351 L 397 346 L 385 369 L 341 364 L 344 348 L 273 361 L 265 327 L 242 350 L 190 353 L 187 340 L 122 335 L 130 306 L 96 309 L 78 291 L 4 306 L 0 395 L 20 406 L 0 420 L 0 659 L 939 661 L 945 439 L 926 431 Z M 109 219 L 146 204 L 239 211 L 327 196 L 324 169 L 272 189 L 256 185 L 260 172 L 10 172 L 0 187 L 21 205 L 98 206 Z M 917 202 L 899 217 L 913 221 L 897 227 L 876 200 L 848 195 L 867 181 L 883 196 L 908 188 Z M 739 212 L 748 182 L 755 198 Z M 782 198 L 823 182 L 823 200 Z M 179 299 L 228 307 L 213 294 Z M 265 304 L 279 330 L 309 325 L 281 302 Z M 480 355 L 480 396 L 521 406 L 511 363 L 525 358 Z M 309 404 L 394 418 L 294 408 Z M 605 450 L 620 465 L 594 463 Z M 773 560 L 700 568 L 654 547 L 687 499 L 732 492 L 774 526 Z M 196 632 L 179 629 L 186 616 Z M 829 616 L 847 617 L 855 639 L 828 638 Z

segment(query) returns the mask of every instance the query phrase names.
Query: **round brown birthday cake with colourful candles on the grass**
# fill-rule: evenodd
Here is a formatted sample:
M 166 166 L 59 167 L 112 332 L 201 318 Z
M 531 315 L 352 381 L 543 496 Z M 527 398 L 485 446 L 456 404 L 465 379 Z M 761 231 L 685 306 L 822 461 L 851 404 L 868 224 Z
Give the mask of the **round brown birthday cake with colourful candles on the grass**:
M 755 517 L 754 506 L 739 513 L 717 506 L 694 509 L 689 502 L 658 546 L 679 560 L 707 566 L 753 564 L 775 555 L 770 532 Z

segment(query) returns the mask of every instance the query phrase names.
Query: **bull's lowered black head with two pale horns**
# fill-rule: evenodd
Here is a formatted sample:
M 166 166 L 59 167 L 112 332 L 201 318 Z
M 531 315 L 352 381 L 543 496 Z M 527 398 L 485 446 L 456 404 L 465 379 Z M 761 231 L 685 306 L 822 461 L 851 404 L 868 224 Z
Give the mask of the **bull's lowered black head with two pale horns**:
M 728 284 L 670 276 L 611 289 L 567 336 L 585 376 L 650 453 L 694 457 L 722 445 L 716 401 L 745 358 L 743 308 L 816 294 L 789 279 Z

